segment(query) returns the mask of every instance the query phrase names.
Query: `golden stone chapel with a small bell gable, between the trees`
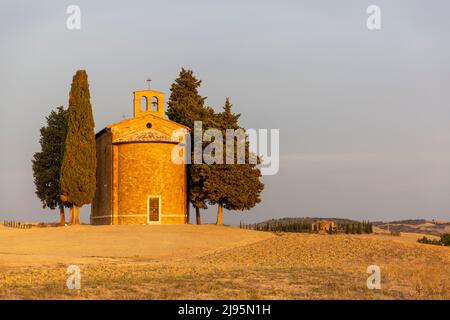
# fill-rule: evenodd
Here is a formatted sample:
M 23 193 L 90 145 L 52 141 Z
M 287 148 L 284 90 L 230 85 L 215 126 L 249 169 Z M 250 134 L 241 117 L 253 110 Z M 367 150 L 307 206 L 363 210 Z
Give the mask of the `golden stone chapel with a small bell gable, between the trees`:
M 134 92 L 134 117 L 96 134 L 91 224 L 187 223 L 186 166 L 171 160 L 179 129 L 189 130 L 164 118 L 162 92 Z

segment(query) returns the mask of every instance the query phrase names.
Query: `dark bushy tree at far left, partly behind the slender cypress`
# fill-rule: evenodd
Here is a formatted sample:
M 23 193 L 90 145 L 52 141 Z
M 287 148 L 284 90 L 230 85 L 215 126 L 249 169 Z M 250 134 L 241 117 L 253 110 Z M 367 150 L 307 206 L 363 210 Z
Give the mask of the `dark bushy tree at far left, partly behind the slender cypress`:
M 41 151 L 33 156 L 32 169 L 36 195 L 44 208 L 59 207 L 60 224 L 65 225 L 64 203 L 60 199 L 61 165 L 67 135 L 67 110 L 62 106 L 52 110 L 46 117 L 47 126 L 41 128 L 39 143 Z

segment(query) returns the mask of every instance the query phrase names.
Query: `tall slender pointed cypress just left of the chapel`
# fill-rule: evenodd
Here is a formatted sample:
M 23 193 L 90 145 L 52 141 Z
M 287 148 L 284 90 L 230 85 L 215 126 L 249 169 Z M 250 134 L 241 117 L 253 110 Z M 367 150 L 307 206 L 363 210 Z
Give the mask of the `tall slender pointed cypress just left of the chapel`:
M 79 208 L 92 202 L 96 188 L 94 117 L 86 71 L 78 70 L 69 94 L 68 131 L 61 170 L 61 199 L 72 204 L 70 224 L 80 223 Z

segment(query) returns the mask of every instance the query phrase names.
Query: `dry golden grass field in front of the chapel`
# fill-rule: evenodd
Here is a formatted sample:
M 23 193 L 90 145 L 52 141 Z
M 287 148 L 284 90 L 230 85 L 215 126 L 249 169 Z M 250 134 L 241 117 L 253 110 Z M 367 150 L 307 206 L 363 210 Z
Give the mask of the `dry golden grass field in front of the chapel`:
M 450 299 L 450 248 L 421 235 L 212 225 L 0 227 L 0 299 Z M 81 268 L 81 289 L 66 269 Z M 381 290 L 369 290 L 369 265 Z

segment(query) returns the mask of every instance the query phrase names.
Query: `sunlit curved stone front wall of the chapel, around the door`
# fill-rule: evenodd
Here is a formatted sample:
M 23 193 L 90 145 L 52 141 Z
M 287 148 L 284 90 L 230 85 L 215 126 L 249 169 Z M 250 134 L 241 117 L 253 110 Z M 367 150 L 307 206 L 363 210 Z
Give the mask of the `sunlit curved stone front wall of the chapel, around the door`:
M 160 222 L 186 223 L 186 167 L 171 143 L 126 143 L 118 150 L 119 224 L 147 223 L 148 197 L 160 197 Z

